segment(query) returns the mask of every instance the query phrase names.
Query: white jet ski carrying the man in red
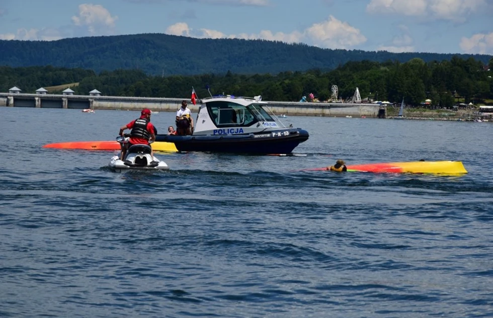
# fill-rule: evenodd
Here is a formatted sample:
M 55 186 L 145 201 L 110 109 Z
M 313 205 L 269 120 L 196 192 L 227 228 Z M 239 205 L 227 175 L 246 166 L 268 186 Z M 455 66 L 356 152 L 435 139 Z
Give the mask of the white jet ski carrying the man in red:
M 124 135 L 124 137 L 118 136 L 116 141 L 120 143 L 120 146 L 125 146 L 128 143 L 129 135 Z M 155 156 L 152 156 L 152 148 L 149 145 L 137 144 L 131 145 L 125 158 L 120 159 L 120 154 L 118 156 L 113 156 L 110 160 L 108 166 L 111 170 L 116 172 L 124 172 L 129 170 L 169 170 L 170 167 L 164 161 L 159 161 Z

